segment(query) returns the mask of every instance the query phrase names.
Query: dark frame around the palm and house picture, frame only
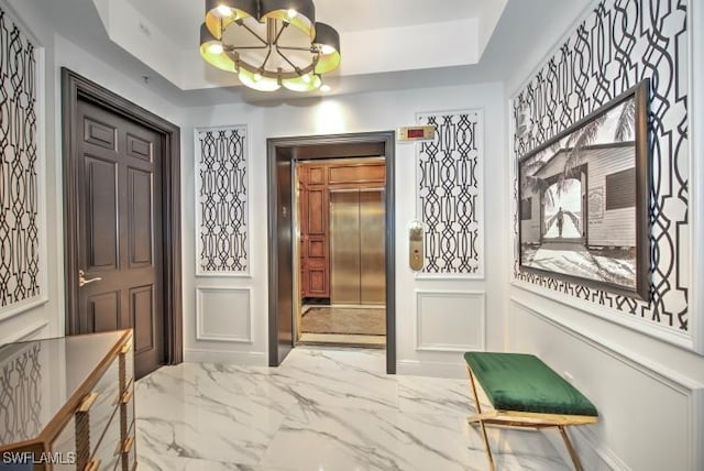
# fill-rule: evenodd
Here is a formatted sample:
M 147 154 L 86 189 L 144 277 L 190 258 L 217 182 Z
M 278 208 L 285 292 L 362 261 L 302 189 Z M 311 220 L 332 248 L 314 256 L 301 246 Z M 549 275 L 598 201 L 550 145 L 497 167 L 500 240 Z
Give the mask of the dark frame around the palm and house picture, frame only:
M 635 112 L 635 167 L 636 177 L 634 185 L 636 187 L 636 208 L 635 208 L 635 222 L 636 222 L 636 275 L 635 287 L 626 286 L 623 284 L 602 282 L 593 278 L 586 278 L 583 276 L 570 275 L 561 272 L 553 272 L 544 269 L 537 269 L 534 266 L 524 265 L 522 263 L 522 233 L 520 220 L 520 213 L 518 213 L 518 266 L 520 271 L 532 272 L 540 275 L 551 276 L 557 280 L 564 280 L 571 283 L 594 287 L 597 289 L 608 291 L 615 294 L 626 295 L 644 300 L 649 299 L 650 295 L 650 227 L 649 227 L 649 196 L 651 191 L 651 135 L 649 130 L 649 109 L 648 102 L 650 97 L 650 80 L 645 79 L 636 86 L 629 88 L 625 92 L 620 94 L 606 105 L 600 107 L 584 119 L 569 127 L 554 138 L 550 139 L 539 147 L 530 151 L 526 155 L 518 160 L 518 201 L 517 208 L 520 209 L 522 201 L 522 177 L 526 172 L 525 166 L 537 154 L 553 146 L 564 138 L 574 133 L 583 128 L 594 119 L 607 113 L 613 108 L 616 108 L 626 100 L 635 99 L 636 112 Z M 618 144 L 618 143 L 616 143 Z M 542 208 L 542 207 L 541 207 Z M 542 223 L 542 209 L 540 219 Z M 585 218 L 587 216 L 585 215 Z M 587 229 L 588 230 L 588 227 Z

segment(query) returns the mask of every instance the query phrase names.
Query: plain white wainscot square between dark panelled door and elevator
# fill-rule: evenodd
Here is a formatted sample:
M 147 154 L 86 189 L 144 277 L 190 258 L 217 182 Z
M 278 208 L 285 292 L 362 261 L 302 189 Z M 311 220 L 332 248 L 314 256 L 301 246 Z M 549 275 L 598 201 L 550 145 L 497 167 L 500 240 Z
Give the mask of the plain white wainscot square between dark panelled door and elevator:
M 196 340 L 252 343 L 250 288 L 196 288 Z

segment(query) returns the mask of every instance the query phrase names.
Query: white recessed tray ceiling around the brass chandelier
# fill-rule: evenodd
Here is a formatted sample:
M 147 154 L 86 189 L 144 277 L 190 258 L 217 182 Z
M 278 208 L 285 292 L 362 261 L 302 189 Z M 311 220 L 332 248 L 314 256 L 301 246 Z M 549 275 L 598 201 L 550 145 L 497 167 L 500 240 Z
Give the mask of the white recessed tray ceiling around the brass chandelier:
M 179 105 L 316 96 L 257 92 L 207 65 L 198 54 L 205 0 L 35 1 L 58 34 L 135 80 L 150 77 L 155 91 Z M 317 20 L 341 33 L 342 65 L 326 81 L 332 94 L 354 94 L 504 80 L 554 31 L 546 23 L 566 19 L 566 29 L 590 2 L 315 0 Z

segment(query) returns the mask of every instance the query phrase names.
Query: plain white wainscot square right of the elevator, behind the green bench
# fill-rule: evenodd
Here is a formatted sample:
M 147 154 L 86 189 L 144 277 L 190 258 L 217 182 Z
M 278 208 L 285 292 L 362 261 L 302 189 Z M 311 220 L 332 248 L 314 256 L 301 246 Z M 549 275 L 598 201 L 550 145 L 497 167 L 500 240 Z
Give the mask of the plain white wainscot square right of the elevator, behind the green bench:
M 416 292 L 416 350 L 484 350 L 485 292 Z

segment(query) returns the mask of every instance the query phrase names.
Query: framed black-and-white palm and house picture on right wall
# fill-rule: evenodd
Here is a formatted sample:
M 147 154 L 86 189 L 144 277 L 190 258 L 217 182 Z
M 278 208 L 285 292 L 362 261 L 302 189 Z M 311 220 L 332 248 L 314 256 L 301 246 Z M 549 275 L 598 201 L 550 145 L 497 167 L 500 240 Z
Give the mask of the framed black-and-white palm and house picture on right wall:
M 518 161 L 520 269 L 648 299 L 649 81 Z

